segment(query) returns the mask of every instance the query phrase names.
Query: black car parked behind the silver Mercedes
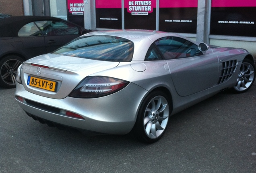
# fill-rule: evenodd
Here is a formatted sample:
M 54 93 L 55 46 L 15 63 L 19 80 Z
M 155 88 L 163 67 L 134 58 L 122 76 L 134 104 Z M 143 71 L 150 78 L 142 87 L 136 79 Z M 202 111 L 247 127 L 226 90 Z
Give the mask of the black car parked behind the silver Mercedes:
M 49 16 L 13 16 L 0 20 L 0 85 L 14 88 L 19 65 L 52 52 L 91 32 L 72 22 Z

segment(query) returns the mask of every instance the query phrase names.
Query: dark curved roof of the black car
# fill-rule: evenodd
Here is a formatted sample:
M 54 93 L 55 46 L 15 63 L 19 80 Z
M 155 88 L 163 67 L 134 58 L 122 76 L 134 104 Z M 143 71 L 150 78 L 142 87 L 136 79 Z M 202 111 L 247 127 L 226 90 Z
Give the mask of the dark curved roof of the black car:
M 18 36 L 18 32 L 22 26 L 24 26 L 27 23 L 38 21 L 38 20 L 64 21 L 61 18 L 50 17 L 50 16 L 11 16 L 8 18 L 0 19 L 0 37 Z

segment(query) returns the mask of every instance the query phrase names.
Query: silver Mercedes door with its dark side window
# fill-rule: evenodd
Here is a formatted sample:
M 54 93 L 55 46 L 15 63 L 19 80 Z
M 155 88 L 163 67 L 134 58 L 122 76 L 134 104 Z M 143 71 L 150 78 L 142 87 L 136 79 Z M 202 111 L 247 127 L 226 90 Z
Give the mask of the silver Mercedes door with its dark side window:
M 177 93 L 184 97 L 213 87 L 218 82 L 218 57 L 200 52 L 184 38 L 165 37 L 155 41 L 169 67 Z

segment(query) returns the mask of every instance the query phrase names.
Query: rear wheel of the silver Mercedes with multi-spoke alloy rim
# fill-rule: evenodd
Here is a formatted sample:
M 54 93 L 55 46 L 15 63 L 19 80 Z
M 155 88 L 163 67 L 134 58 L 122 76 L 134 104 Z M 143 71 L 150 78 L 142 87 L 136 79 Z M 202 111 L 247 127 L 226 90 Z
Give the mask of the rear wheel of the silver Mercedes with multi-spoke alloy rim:
M 132 136 L 145 143 L 158 141 L 167 128 L 169 114 L 170 105 L 165 93 L 150 93 L 139 109 Z

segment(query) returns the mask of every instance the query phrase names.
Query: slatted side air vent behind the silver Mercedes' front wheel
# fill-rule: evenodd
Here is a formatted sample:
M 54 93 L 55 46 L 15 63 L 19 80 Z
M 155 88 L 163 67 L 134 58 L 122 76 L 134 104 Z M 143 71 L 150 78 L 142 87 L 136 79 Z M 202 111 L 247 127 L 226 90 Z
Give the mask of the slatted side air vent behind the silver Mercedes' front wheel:
M 222 62 L 221 76 L 219 76 L 219 84 L 226 82 L 234 74 L 237 67 L 237 61 L 225 61 Z

